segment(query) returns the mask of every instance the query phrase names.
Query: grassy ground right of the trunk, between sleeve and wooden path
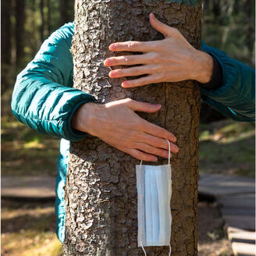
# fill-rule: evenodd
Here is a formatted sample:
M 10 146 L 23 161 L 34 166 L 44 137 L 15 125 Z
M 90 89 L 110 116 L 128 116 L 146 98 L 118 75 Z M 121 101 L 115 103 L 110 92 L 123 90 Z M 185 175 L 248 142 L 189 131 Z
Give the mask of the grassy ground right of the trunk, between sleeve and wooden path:
M 200 172 L 254 177 L 254 129 L 254 123 L 237 123 L 229 119 L 201 124 Z

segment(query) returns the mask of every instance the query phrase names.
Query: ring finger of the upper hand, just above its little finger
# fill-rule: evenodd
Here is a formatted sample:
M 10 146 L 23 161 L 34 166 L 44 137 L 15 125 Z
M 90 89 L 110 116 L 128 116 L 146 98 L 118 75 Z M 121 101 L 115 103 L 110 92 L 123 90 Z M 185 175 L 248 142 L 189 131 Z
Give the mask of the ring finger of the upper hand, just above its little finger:
M 109 77 L 118 78 L 123 76 L 140 76 L 148 73 L 153 73 L 158 69 L 155 64 L 143 65 L 143 66 L 133 66 L 132 68 L 126 69 L 115 69 L 109 72 Z

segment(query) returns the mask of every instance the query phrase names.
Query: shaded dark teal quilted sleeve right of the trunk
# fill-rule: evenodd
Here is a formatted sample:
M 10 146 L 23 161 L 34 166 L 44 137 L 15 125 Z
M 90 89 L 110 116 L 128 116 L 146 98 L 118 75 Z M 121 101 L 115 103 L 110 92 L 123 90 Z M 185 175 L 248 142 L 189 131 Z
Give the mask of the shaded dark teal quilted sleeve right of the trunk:
M 231 59 L 225 52 L 202 43 L 222 66 L 222 87 L 200 87 L 201 98 L 223 115 L 240 122 L 255 120 L 255 70 Z

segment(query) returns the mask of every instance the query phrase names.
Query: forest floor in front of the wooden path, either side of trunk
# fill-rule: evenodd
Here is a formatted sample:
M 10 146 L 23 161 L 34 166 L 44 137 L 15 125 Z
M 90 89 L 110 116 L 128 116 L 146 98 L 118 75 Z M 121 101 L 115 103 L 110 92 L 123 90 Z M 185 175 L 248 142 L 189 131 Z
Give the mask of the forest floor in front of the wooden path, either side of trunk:
M 216 204 L 198 204 L 198 256 L 232 256 Z M 55 235 L 54 202 L 2 200 L 2 250 L 5 256 L 61 256 Z

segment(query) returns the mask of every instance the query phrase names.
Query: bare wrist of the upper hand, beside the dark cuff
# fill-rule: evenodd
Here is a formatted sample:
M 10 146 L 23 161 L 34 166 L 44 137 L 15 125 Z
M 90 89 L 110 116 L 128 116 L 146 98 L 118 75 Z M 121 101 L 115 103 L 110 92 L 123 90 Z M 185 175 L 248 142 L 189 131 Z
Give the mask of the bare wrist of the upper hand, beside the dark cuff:
M 193 80 L 201 84 L 208 83 L 212 78 L 214 61 L 212 56 L 206 52 L 196 50 L 194 55 Z

